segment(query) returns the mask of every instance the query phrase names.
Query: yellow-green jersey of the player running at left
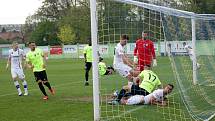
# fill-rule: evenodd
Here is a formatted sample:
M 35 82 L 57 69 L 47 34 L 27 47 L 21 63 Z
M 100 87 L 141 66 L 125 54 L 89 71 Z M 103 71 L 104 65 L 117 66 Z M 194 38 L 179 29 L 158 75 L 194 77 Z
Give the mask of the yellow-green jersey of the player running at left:
M 34 51 L 29 51 L 26 54 L 26 61 L 30 62 L 34 66 L 33 72 L 45 70 L 43 56 L 43 51 L 39 48 L 36 48 Z

